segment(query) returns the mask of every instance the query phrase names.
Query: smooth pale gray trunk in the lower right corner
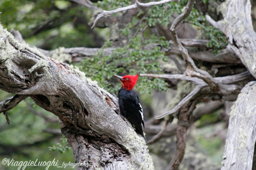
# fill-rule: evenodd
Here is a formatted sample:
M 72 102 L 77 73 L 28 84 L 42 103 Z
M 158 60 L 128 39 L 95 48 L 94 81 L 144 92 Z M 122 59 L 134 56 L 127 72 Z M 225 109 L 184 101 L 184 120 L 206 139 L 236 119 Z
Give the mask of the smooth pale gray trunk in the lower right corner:
M 256 140 L 256 82 L 244 86 L 231 107 L 222 170 L 252 169 Z

